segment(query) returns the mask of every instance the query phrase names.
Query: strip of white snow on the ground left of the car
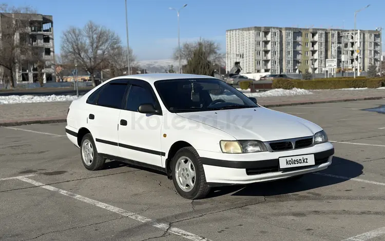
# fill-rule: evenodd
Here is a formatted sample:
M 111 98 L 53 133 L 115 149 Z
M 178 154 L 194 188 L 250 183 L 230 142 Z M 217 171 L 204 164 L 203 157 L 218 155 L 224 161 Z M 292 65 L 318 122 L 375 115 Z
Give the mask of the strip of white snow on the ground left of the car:
M 79 98 L 82 97 L 81 95 Z M 38 103 L 38 102 L 71 102 L 77 99 L 76 95 L 9 95 L 0 96 L 1 104 Z

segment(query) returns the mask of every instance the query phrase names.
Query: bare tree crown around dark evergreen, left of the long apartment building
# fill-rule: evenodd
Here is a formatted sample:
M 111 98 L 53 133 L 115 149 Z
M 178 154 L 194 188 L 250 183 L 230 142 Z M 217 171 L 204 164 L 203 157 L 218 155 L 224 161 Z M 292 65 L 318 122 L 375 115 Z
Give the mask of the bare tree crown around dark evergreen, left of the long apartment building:
M 194 53 L 197 53 L 196 50 L 203 48 L 203 52 L 208 56 L 208 60 L 212 64 L 221 65 L 224 59 L 224 53 L 221 53 L 221 47 L 215 41 L 210 39 L 201 38 L 196 42 L 185 42 L 181 46 L 181 59 L 182 61 L 188 62 L 194 57 Z M 178 47 L 174 50 L 173 54 L 174 59 L 178 59 Z

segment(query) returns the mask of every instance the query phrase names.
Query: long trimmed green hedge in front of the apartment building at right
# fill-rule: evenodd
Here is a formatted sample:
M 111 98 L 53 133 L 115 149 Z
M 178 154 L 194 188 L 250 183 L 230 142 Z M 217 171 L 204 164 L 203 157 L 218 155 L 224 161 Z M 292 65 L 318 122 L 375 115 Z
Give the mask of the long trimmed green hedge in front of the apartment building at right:
M 340 77 L 340 78 L 320 78 L 309 81 L 299 79 L 273 79 L 273 89 L 307 89 L 307 90 L 327 90 L 344 88 L 378 88 L 385 86 L 385 77 L 366 78 L 366 77 Z

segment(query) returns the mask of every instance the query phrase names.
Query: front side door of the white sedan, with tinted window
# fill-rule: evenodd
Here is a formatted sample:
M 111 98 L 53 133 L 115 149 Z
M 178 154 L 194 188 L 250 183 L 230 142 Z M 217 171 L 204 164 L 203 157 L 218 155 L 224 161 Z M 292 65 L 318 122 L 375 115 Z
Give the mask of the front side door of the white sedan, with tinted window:
M 138 112 L 141 104 L 159 106 L 152 87 L 144 81 L 130 80 L 127 104 L 119 117 L 119 151 L 126 159 L 162 166 L 162 115 Z

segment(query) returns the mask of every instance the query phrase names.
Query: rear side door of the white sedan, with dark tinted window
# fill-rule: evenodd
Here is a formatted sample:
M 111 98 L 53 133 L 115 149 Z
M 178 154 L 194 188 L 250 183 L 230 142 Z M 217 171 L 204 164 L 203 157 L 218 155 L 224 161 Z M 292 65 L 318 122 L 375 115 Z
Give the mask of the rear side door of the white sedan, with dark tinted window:
M 116 79 L 87 99 L 87 128 L 99 153 L 119 156 L 118 123 L 127 87 L 127 80 Z

